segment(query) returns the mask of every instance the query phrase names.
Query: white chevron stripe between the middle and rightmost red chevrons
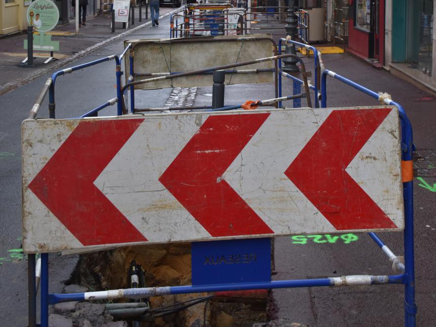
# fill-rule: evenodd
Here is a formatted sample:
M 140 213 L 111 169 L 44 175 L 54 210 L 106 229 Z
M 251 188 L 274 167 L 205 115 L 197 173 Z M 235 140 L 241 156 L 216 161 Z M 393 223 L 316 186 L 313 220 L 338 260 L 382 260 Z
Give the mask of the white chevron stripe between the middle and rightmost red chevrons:
M 284 174 L 330 109 L 272 113 L 224 179 L 277 234 L 335 231 Z

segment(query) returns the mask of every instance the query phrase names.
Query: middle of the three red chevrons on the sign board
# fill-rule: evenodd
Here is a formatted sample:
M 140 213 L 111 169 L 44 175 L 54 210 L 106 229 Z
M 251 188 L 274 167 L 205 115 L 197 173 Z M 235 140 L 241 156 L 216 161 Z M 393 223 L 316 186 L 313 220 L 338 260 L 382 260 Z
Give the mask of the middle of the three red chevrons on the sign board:
M 222 179 L 268 116 L 210 116 L 159 178 L 212 236 L 273 233 Z

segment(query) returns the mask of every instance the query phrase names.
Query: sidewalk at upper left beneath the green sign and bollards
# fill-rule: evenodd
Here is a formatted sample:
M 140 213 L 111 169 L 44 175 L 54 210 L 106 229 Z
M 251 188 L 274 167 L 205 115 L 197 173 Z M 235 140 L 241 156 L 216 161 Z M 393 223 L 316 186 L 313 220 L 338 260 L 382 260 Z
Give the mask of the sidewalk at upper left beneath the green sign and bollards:
M 178 10 L 178 8 L 161 7 L 160 16 L 163 17 L 174 10 Z M 0 95 L 24 85 L 43 74 L 47 74 L 62 65 L 75 61 L 117 37 L 122 38 L 137 30 L 139 26 L 150 25 L 150 10 L 148 14 L 148 19 L 146 20 L 146 8 L 142 7 L 142 21 L 139 22 L 139 7 L 135 8 L 135 24 L 130 25 L 129 29 L 125 29 L 122 28 L 122 23 L 117 22 L 114 33 L 112 33 L 111 29 L 110 14 L 88 17 L 87 25 L 80 28 L 78 35 L 75 34 L 75 20 L 71 20 L 69 24 L 58 26 L 49 32 L 52 34 L 53 41 L 59 41 L 59 51 L 54 53 L 54 57 L 59 60 L 43 64 L 47 58 L 33 59 L 32 67 L 21 64 L 21 61 L 27 57 L 27 50 L 24 49 L 24 40 L 27 38 L 26 33 L 0 38 L 0 68 L 3 73 L 0 75 Z M 47 51 L 34 51 L 33 55 L 48 57 L 50 53 Z

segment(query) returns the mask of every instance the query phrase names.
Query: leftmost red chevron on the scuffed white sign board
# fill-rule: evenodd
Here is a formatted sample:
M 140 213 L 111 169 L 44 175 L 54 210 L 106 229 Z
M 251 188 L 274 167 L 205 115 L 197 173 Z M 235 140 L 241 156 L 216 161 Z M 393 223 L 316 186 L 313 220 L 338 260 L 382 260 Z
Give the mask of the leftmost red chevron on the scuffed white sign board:
M 93 184 L 142 121 L 81 122 L 29 184 L 83 245 L 147 241 Z

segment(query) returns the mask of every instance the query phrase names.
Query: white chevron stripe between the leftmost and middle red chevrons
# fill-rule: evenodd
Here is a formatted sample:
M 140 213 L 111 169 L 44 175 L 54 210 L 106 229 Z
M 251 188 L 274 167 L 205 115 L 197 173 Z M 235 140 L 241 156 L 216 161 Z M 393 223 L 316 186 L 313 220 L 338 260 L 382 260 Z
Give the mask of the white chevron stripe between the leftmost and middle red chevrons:
M 150 242 L 210 236 L 158 180 L 201 126 L 192 118 L 146 116 L 94 182 Z

